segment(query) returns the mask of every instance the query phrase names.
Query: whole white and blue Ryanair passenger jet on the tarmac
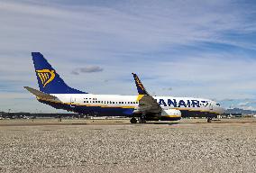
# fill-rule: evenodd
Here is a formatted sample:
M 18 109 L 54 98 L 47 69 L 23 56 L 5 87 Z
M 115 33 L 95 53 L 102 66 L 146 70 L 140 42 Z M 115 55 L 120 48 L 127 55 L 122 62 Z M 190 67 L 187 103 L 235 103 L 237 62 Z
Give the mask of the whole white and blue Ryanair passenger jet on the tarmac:
M 78 114 L 127 116 L 131 123 L 177 121 L 182 117 L 203 116 L 208 121 L 224 109 L 212 100 L 192 97 L 151 96 L 133 73 L 137 96 L 94 95 L 69 87 L 40 52 L 32 52 L 40 90 L 24 87 L 43 104 Z

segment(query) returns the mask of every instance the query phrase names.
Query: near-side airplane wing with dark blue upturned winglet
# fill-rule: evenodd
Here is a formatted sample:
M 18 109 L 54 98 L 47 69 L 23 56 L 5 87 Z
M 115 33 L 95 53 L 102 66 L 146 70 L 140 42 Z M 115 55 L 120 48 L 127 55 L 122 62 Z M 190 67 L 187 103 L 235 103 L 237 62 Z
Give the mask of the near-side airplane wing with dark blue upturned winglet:
M 157 100 L 155 100 L 147 92 L 145 87 L 143 87 L 140 78 L 135 73 L 132 73 L 132 74 L 133 74 L 135 84 L 139 93 L 139 96 L 137 99 L 137 101 L 139 101 L 139 107 L 137 111 L 142 112 L 142 114 L 143 113 L 155 113 L 155 114 L 159 113 L 160 114 L 160 112 L 162 111 L 162 108 L 160 107 Z

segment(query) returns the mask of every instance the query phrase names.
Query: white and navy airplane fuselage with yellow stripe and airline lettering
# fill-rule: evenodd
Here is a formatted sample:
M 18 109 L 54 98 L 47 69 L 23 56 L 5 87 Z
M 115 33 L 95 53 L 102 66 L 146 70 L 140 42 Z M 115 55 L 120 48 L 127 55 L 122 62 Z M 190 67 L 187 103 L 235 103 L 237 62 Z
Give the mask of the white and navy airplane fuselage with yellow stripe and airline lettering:
M 52 94 L 52 96 L 58 99 L 39 99 L 39 101 L 58 109 L 96 116 L 132 116 L 139 105 L 138 96 L 92 94 Z M 164 110 L 179 110 L 182 117 L 216 115 L 224 112 L 215 101 L 203 98 L 172 96 L 153 96 L 153 98 Z

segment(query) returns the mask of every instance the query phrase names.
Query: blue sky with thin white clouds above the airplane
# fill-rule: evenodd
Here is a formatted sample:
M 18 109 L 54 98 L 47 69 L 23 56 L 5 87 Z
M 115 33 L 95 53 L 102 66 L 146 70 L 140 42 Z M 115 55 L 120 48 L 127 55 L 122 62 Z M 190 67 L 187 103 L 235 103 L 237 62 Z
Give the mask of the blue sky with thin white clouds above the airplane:
M 70 87 L 213 99 L 256 110 L 256 2 L 0 0 L 0 111 L 61 112 L 38 88 L 32 51 Z

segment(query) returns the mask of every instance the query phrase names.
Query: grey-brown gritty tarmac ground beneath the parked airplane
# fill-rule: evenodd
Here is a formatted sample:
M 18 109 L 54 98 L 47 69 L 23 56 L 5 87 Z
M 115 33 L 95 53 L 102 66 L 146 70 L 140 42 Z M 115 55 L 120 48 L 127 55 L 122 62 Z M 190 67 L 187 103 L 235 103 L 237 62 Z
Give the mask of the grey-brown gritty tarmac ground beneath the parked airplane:
M 0 120 L 0 172 L 256 172 L 256 119 Z

